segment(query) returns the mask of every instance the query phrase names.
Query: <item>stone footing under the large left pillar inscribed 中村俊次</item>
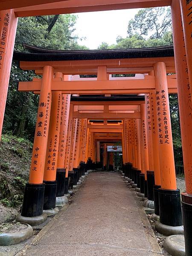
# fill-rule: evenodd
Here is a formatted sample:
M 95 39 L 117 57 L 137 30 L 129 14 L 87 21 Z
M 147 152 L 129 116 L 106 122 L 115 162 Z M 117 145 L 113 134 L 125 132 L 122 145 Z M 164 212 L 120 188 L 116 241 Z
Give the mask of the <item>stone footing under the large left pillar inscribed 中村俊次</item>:
M 23 223 L 27 223 L 29 225 L 31 225 L 32 227 L 34 226 L 38 226 L 42 223 L 44 223 L 47 220 L 47 214 L 43 213 L 39 216 L 35 216 L 35 217 L 24 217 L 21 214 L 18 214 L 15 221 L 17 222 L 23 222 Z

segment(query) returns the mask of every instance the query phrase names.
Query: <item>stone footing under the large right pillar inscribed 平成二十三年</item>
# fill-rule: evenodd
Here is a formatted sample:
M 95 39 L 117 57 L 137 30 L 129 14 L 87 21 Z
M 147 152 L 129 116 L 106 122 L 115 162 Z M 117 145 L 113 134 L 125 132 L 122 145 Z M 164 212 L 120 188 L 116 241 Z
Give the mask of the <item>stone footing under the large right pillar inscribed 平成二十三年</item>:
M 183 226 L 168 226 L 160 223 L 160 221 L 155 222 L 155 230 L 163 234 L 164 236 L 172 236 L 172 235 L 183 235 L 184 228 Z

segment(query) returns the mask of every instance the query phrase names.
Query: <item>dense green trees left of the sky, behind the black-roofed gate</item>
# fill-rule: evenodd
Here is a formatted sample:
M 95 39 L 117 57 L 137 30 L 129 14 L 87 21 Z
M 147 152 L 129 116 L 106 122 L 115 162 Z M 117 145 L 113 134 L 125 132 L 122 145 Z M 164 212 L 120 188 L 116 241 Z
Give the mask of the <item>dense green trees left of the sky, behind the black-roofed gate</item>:
M 49 49 L 87 49 L 75 35 L 76 15 L 22 17 L 18 20 L 15 50 L 25 51 L 23 43 Z M 33 71 L 23 71 L 12 62 L 3 132 L 33 140 L 39 96 L 17 91 L 19 81 L 32 81 Z

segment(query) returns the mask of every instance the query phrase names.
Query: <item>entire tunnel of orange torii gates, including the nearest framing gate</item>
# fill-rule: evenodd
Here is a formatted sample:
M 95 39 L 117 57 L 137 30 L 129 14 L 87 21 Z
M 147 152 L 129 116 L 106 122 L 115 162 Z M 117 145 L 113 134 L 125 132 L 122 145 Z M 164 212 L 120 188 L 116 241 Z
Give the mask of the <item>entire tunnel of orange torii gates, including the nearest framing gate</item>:
M 154 207 L 157 232 L 184 233 L 186 256 L 192 256 L 192 1 L 55 2 L 0 2 L 0 132 L 12 55 L 21 69 L 42 76 L 18 85 L 19 91 L 32 91 L 40 98 L 29 183 L 16 220 L 43 223 L 47 218 L 43 210 L 62 203 L 68 189 L 78 186 L 88 170 L 113 170 L 113 153 L 107 148 L 121 145 L 122 172 L 146 198 L 145 206 Z M 61 51 L 25 44 L 30 53 L 13 54 L 17 17 L 168 5 L 174 46 Z M 179 101 L 186 183 L 181 196 L 176 185 L 170 93 L 177 93 Z

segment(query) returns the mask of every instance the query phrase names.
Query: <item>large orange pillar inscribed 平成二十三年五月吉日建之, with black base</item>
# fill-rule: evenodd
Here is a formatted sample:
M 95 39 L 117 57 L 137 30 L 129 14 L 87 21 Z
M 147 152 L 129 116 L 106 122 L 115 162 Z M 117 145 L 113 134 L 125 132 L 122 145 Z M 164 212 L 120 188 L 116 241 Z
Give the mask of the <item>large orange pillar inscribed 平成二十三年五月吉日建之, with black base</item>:
M 164 62 L 154 64 L 154 76 L 161 173 L 161 189 L 159 189 L 160 223 L 169 226 L 181 226 L 180 191 L 177 189 L 175 176 L 169 94 Z M 160 231 L 158 226 L 156 226 L 156 229 Z

